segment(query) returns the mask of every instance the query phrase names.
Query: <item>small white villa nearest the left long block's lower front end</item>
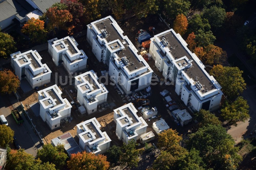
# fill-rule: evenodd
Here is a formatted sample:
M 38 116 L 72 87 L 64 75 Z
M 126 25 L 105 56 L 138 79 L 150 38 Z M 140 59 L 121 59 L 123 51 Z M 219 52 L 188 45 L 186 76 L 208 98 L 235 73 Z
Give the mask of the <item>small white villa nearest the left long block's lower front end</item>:
M 77 101 L 86 108 L 88 114 L 96 112 L 97 106 L 107 101 L 109 91 L 98 79 L 93 70 L 75 77 Z

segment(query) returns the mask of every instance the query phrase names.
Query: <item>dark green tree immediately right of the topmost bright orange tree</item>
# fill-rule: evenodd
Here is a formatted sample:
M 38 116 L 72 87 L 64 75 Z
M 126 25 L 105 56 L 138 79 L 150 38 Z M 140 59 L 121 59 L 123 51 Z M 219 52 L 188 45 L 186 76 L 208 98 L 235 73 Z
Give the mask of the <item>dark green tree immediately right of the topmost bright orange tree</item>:
M 188 20 L 189 32 L 197 32 L 198 30 L 210 31 L 211 26 L 207 19 L 201 18 L 199 14 L 193 15 Z

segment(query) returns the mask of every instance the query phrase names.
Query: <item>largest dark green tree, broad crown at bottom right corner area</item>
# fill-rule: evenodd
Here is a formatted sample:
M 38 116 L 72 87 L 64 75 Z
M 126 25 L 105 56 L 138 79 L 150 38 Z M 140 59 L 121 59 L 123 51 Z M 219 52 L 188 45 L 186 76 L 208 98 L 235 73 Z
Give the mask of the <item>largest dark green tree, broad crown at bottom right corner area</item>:
M 241 156 L 237 154 L 238 148 L 234 147 L 234 143 L 234 139 L 220 125 L 203 126 L 190 134 L 186 141 L 189 149 L 199 150 L 199 155 L 207 164 L 207 168 L 213 169 L 230 169 L 223 167 L 224 157 L 227 154 L 230 155 L 233 166 L 238 167 Z

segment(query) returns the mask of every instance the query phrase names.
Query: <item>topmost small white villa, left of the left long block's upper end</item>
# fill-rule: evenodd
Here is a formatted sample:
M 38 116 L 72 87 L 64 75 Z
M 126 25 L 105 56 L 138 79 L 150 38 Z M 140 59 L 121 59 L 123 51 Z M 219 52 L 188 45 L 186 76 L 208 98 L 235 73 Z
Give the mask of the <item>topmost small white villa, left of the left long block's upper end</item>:
M 69 74 L 87 67 L 87 55 L 83 50 L 78 50 L 78 43 L 73 37 L 60 40 L 48 40 L 48 53 L 56 66 L 63 65 Z

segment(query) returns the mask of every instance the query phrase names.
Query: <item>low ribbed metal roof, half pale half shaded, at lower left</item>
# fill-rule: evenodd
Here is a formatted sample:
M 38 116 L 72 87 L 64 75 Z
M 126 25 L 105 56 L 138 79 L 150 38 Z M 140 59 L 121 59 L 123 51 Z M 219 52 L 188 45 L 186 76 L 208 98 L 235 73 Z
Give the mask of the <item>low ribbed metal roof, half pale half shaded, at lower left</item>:
M 55 146 L 57 146 L 58 144 L 63 144 L 69 156 L 73 153 L 82 152 L 77 142 L 74 140 L 69 132 L 57 138 L 54 138 L 51 141 Z

